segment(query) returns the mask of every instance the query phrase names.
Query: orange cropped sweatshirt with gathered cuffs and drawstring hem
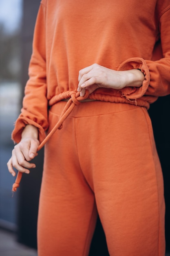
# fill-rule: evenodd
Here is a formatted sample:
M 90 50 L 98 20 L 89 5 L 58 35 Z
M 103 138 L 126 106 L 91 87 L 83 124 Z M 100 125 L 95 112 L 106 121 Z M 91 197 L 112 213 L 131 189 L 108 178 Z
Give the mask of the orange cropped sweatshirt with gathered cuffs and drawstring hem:
M 163 58 L 153 61 L 161 40 Z M 90 99 L 149 108 L 170 93 L 170 0 L 42 0 L 35 25 L 29 80 L 12 138 L 26 124 L 48 129 L 48 107 L 77 90 L 78 73 L 97 63 L 113 70 L 140 69 L 140 88 L 99 88 Z

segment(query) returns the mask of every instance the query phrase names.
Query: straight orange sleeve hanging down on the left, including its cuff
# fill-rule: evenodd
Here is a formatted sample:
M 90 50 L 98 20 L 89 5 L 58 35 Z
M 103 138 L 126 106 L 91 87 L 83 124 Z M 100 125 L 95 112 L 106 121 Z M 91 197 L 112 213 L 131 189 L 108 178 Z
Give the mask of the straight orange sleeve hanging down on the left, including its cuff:
M 46 99 L 46 46 L 45 46 L 45 1 L 42 1 L 38 11 L 33 37 L 33 52 L 29 63 L 29 80 L 25 86 L 23 107 L 15 128 L 12 139 L 18 143 L 22 130 L 27 124 L 36 126 L 39 130 L 40 142 L 46 137 L 48 116 Z

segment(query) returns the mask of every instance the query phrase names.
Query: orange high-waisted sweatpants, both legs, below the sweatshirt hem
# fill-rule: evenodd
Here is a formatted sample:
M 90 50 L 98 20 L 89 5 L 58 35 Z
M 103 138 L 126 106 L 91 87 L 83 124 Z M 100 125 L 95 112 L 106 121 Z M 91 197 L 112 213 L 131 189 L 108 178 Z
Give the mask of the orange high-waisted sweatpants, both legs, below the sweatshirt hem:
M 49 111 L 49 130 L 66 102 Z M 110 256 L 164 256 L 161 166 L 146 108 L 76 106 L 45 146 L 39 256 L 88 256 L 99 214 Z

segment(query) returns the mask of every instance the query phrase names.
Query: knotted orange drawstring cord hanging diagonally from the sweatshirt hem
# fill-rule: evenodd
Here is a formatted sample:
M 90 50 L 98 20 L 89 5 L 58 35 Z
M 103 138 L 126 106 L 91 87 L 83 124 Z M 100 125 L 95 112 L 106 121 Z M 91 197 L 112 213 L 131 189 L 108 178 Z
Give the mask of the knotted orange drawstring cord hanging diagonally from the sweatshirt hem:
M 63 111 L 61 113 L 59 121 L 57 122 L 57 124 L 55 124 L 55 126 L 53 127 L 51 132 L 49 132 L 49 134 L 42 141 L 42 143 L 38 146 L 38 150 L 37 151 L 39 151 L 41 148 L 43 148 L 43 146 L 46 144 L 46 142 L 49 140 L 49 138 L 54 134 L 54 132 L 57 129 L 61 129 L 62 128 L 62 123 L 68 117 L 68 115 L 71 113 L 73 108 L 75 108 L 76 105 L 79 105 L 80 101 L 83 101 L 84 99 L 87 99 L 88 95 L 89 95 L 88 90 L 86 90 L 86 93 L 85 93 L 84 97 L 80 96 L 80 92 L 73 92 L 71 94 L 71 98 L 66 103 L 66 105 L 65 105 L 65 107 L 64 107 L 64 109 L 63 109 Z M 12 191 L 13 192 L 15 192 L 17 190 L 17 188 L 20 186 L 21 178 L 22 178 L 22 173 L 20 171 L 18 171 L 15 183 L 13 184 L 13 187 L 12 187 Z

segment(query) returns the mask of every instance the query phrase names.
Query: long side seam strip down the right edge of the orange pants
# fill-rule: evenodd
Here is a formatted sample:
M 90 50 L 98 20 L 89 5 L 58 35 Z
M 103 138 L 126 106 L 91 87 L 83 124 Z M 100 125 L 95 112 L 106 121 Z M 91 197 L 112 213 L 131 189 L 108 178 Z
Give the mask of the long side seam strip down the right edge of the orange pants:
M 146 117 L 146 113 L 144 111 L 143 108 L 141 108 L 142 112 L 144 113 L 144 117 L 146 119 L 146 123 L 147 123 L 147 126 L 148 126 L 148 134 L 149 134 L 149 140 L 150 140 L 150 147 L 152 145 L 151 143 L 151 138 L 150 138 L 150 129 L 149 129 L 149 125 L 148 125 L 148 118 Z M 148 114 L 148 117 L 149 117 L 149 114 Z M 150 118 L 150 117 L 149 117 Z M 152 124 L 152 123 L 151 123 Z M 151 151 L 152 151 L 152 147 L 151 147 Z M 152 159 L 153 159 L 153 151 L 152 151 Z M 153 162 L 154 162 L 154 166 L 155 166 L 155 161 L 153 159 Z M 156 169 L 156 166 L 155 166 L 155 169 Z M 157 175 L 155 173 L 155 176 L 156 176 L 156 180 L 157 180 Z M 158 196 L 158 180 L 157 180 L 157 200 L 158 200 L 158 256 L 159 256 L 159 236 L 160 236 L 160 213 L 159 213 L 159 207 L 160 207 L 160 202 L 159 202 L 159 196 Z

